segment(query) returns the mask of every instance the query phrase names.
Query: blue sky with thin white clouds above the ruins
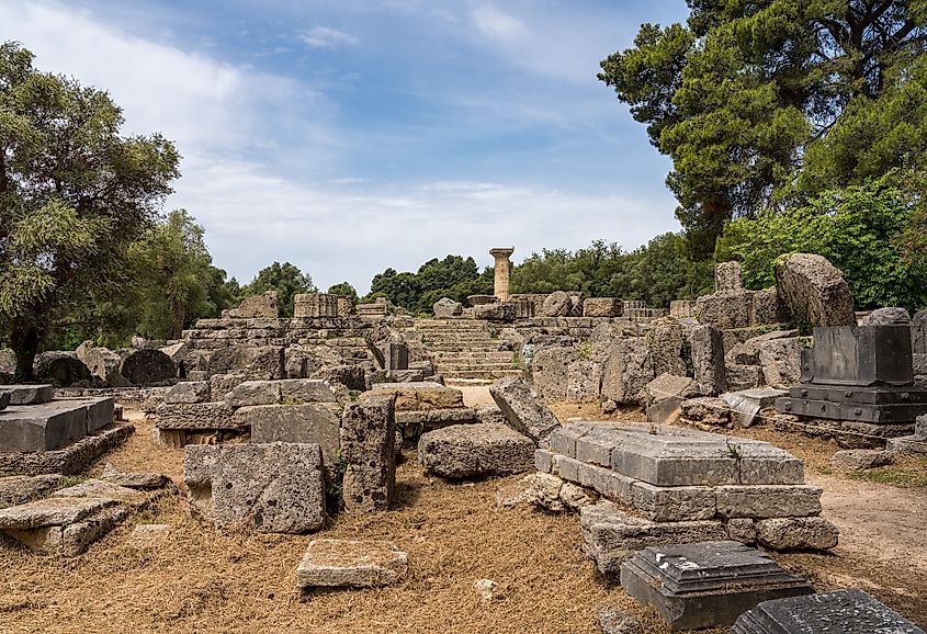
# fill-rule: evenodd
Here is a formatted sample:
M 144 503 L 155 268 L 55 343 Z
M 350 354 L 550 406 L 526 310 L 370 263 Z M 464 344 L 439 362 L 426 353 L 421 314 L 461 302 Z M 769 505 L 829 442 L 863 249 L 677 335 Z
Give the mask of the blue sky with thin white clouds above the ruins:
M 183 155 L 166 208 L 240 281 L 677 230 L 669 161 L 596 79 L 683 0 L 0 0 L 0 39 Z

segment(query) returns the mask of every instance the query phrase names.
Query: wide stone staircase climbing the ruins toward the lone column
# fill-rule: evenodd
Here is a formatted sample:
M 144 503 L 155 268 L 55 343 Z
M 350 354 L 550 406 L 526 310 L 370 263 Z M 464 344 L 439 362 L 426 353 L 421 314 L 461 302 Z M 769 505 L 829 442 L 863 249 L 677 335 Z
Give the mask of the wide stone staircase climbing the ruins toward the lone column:
M 489 385 L 507 376 L 523 376 L 511 350 L 500 350 L 485 321 L 422 319 L 416 322 L 422 346 L 449 385 Z

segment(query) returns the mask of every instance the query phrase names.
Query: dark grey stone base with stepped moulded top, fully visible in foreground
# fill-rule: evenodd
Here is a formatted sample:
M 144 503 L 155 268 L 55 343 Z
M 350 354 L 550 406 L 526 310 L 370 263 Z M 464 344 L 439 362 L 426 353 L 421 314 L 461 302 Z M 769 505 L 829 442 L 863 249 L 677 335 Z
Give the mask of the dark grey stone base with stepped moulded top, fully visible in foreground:
M 760 601 L 814 592 L 759 551 L 731 541 L 645 548 L 622 565 L 621 586 L 672 631 L 731 625 Z

